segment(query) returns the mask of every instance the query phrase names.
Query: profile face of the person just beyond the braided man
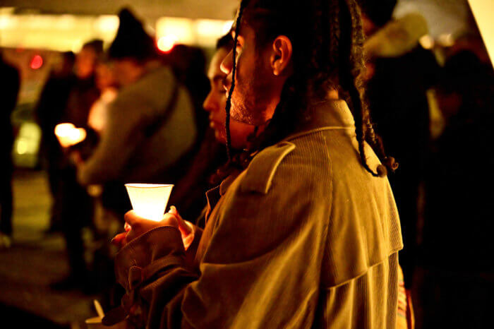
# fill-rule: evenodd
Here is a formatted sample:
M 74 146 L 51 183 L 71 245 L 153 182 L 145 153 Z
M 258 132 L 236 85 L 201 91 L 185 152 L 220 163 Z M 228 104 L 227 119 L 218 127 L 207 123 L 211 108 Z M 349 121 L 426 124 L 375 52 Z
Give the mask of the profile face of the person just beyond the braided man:
M 227 133 L 225 121 L 227 114 L 227 92 L 223 88 L 223 79 L 226 76 L 219 67 L 229 50 L 220 48 L 212 57 L 207 77 L 210 80 L 211 91 L 207 95 L 203 107 L 210 112 L 210 126 L 215 130 L 215 137 L 219 143 L 227 143 Z M 242 124 L 234 119 L 230 120 L 231 146 L 241 149 L 246 147 L 247 137 L 252 133 L 254 127 L 249 124 Z

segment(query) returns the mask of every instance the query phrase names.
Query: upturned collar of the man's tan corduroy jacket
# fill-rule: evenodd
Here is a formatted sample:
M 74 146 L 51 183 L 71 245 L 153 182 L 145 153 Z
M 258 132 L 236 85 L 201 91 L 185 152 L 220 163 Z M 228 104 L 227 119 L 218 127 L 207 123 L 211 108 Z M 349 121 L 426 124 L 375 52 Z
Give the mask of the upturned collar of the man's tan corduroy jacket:
M 354 116 L 344 100 L 325 100 L 313 104 L 299 124 L 299 128 L 284 140 L 330 129 L 355 129 Z

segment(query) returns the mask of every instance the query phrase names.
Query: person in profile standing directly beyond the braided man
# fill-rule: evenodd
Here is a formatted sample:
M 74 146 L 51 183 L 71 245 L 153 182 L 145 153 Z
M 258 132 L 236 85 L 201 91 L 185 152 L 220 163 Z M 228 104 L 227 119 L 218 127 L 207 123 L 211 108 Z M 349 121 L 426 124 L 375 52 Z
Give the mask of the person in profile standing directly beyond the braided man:
M 227 143 L 225 121 L 227 113 L 227 92 L 223 88 L 223 79 L 227 76 L 221 71 L 219 65 L 233 47 L 231 34 L 224 35 L 217 41 L 216 52 L 212 56 L 207 71 L 210 92 L 205 97 L 203 112 L 209 114 L 209 128 L 205 132 L 205 138 L 195 155 L 192 166 L 187 174 L 181 179 L 171 194 L 169 203 L 179 207 L 183 217 L 194 220 L 198 218 L 205 207 L 205 191 L 211 189 L 217 181 L 217 169 L 227 162 Z M 204 111 L 205 110 L 205 111 Z M 231 120 L 231 147 L 235 155 L 247 147 L 247 138 L 253 133 L 254 127 Z M 200 218 L 201 225 L 204 224 L 204 216 Z

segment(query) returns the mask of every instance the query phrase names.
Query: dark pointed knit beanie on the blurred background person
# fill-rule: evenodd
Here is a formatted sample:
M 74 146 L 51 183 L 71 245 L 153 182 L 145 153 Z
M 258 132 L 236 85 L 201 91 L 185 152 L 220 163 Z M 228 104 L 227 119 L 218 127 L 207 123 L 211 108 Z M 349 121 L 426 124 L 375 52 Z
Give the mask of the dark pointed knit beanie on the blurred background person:
M 155 40 L 128 8 L 119 13 L 119 30 L 108 49 L 109 59 L 133 58 L 138 61 L 156 56 Z

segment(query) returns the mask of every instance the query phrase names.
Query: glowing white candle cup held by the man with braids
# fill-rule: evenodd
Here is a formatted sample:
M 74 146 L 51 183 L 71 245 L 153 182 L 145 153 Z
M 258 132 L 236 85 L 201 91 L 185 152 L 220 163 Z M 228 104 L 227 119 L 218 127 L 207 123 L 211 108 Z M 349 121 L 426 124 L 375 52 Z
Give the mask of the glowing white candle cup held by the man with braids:
M 159 222 L 167 208 L 173 184 L 125 184 L 135 213 Z

